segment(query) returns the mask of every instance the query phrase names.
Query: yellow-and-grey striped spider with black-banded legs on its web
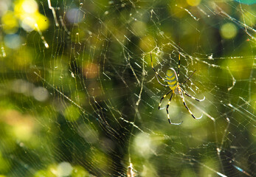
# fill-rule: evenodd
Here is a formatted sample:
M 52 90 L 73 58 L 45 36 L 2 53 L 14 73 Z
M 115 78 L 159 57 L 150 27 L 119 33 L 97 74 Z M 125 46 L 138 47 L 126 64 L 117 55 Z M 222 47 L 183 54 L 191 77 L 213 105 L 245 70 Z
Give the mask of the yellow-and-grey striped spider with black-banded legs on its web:
M 187 97 L 193 98 L 194 100 L 196 100 L 196 101 L 198 101 L 198 102 L 204 101 L 205 97 L 204 97 L 202 100 L 198 100 L 196 97 L 193 97 L 193 96 L 191 96 L 190 94 L 187 94 L 186 91 L 184 91 L 183 89 L 181 89 L 180 86 L 183 85 L 184 83 L 186 83 L 187 80 L 190 80 L 190 78 L 191 78 L 192 75 L 196 72 L 196 70 L 190 75 L 190 77 L 187 77 L 187 80 L 185 80 L 183 83 L 179 83 L 179 68 L 180 68 L 180 64 L 181 64 L 181 56 L 180 56 L 180 54 L 179 54 L 178 74 L 176 74 L 175 69 L 170 68 L 170 69 L 167 69 L 167 72 L 166 72 L 166 74 L 165 74 L 165 78 L 163 78 L 163 77 L 160 76 L 160 74 L 159 74 L 158 72 L 156 72 L 156 69 L 154 69 L 154 67 L 153 67 L 153 61 L 152 61 L 152 55 L 151 55 L 151 67 L 152 67 L 153 71 L 154 71 L 155 74 L 156 74 L 156 79 L 157 79 L 158 83 L 160 83 L 162 86 L 170 87 L 170 91 L 167 92 L 167 94 L 170 94 L 170 93 L 171 93 L 171 95 L 170 95 L 170 100 L 172 99 L 173 94 L 178 94 L 178 95 L 180 95 L 181 98 L 182 98 L 182 101 L 183 101 L 183 104 L 184 104 L 185 108 L 187 108 L 187 104 L 186 104 L 186 102 L 185 102 L 185 100 L 184 100 L 184 95 L 183 95 L 183 94 L 187 95 Z M 177 76 L 177 75 L 178 75 L 178 76 Z M 157 76 L 158 76 L 161 80 L 163 80 L 164 82 L 166 82 L 167 85 L 161 83 L 161 82 L 159 81 L 159 78 L 158 78 Z M 159 103 L 159 109 L 160 109 L 162 100 L 167 96 L 167 94 L 165 94 L 165 95 L 161 98 L 160 103 Z M 180 125 L 183 121 L 180 122 L 180 123 L 173 123 L 173 122 L 170 122 L 170 116 L 169 116 L 169 112 L 168 112 L 168 108 L 169 108 L 169 105 L 170 105 L 170 100 L 169 100 L 169 102 L 167 103 L 167 107 L 166 107 L 168 121 L 169 121 L 170 124 L 173 124 L 173 125 Z M 203 115 L 201 115 L 201 117 L 195 117 L 195 116 L 193 115 L 193 113 L 190 111 L 189 108 L 187 108 L 187 111 L 190 112 L 191 116 L 192 116 L 194 119 L 201 119 L 201 117 L 203 116 Z

